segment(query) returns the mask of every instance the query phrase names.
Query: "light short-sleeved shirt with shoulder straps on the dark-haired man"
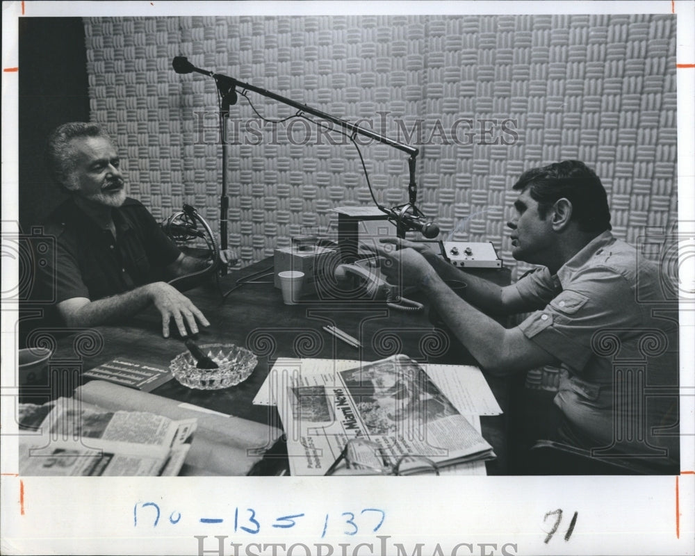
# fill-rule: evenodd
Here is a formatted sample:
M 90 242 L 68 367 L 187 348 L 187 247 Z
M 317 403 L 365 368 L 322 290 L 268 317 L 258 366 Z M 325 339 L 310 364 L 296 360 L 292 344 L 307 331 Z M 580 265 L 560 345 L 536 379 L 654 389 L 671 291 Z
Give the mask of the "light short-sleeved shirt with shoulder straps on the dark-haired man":
M 543 268 L 515 287 L 524 300 L 544 304 L 519 329 L 562 362 L 555 404 L 576 430 L 594 439 L 591 447 L 614 439 L 614 411 L 631 411 L 629 400 L 614 402 L 621 361 L 635 361 L 631 372 L 635 379 L 641 373 L 644 384 L 677 388 L 678 323 L 653 313 L 655 303 L 666 302 L 659 268 L 610 231 L 594 238 L 556 276 Z M 658 357 L 645 354 L 645 334 L 664 343 Z M 648 416 L 651 423 L 667 418 L 655 405 L 648 407 Z

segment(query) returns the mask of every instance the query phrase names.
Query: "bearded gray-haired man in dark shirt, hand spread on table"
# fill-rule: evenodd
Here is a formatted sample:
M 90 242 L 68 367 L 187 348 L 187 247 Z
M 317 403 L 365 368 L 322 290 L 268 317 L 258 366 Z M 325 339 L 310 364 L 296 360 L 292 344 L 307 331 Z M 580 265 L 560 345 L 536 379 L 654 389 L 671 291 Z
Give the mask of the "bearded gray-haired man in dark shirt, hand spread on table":
M 150 304 L 173 320 L 181 336 L 209 322 L 188 297 L 165 280 L 200 270 L 161 231 L 145 206 L 126 197 L 120 159 L 98 124 L 70 122 L 48 141 L 51 174 L 70 198 L 56 208 L 45 232 L 56 238 L 56 266 L 40 269 L 54 284 L 56 311 L 69 327 L 128 318 Z M 188 327 L 188 330 L 186 329 Z

